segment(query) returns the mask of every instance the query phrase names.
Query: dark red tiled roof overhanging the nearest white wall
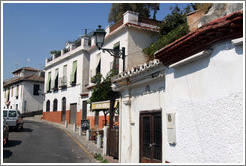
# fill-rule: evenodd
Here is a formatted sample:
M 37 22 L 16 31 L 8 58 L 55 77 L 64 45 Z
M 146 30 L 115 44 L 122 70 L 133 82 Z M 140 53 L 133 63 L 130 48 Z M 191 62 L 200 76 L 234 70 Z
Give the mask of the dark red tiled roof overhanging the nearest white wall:
M 215 19 L 155 53 L 165 66 L 188 58 L 212 44 L 243 36 L 243 11 Z

